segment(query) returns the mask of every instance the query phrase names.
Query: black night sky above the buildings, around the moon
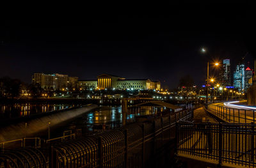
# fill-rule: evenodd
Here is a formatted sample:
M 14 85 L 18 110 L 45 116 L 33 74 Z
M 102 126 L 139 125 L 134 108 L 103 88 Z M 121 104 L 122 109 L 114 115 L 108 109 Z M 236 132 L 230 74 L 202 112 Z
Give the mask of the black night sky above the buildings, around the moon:
M 79 79 L 111 73 L 175 88 L 187 74 L 202 84 L 207 61 L 229 58 L 233 72 L 241 57 L 252 62 L 255 56 L 250 4 L 141 3 L 135 9 L 122 4 L 117 11 L 106 5 L 4 19 L 0 77 L 31 82 L 34 72 Z

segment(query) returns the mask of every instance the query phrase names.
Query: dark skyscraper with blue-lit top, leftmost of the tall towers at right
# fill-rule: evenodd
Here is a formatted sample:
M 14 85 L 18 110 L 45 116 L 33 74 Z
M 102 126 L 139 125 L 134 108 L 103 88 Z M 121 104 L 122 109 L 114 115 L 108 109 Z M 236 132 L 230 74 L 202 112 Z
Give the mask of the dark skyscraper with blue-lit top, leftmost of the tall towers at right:
M 221 70 L 221 85 L 231 86 L 230 77 L 230 59 L 223 59 L 223 69 Z

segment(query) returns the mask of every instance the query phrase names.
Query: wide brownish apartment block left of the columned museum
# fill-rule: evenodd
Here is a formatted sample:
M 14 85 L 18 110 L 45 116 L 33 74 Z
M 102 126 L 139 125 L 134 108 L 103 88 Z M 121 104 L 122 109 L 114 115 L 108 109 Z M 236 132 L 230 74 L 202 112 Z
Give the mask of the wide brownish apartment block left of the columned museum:
M 68 77 L 59 73 L 44 74 L 34 73 L 32 76 L 32 84 L 39 84 L 43 89 L 59 89 L 66 91 L 68 88 L 76 88 L 78 77 Z

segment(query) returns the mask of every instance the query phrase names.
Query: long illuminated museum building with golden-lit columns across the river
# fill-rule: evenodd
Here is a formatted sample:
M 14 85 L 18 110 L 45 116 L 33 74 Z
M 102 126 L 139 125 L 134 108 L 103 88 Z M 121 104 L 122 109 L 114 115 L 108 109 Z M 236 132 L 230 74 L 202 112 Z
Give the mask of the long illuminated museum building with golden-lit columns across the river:
M 98 89 L 161 89 L 159 81 L 151 81 L 150 79 L 125 79 L 103 73 L 97 77 L 97 80 L 79 80 L 79 86 L 82 88 L 98 88 Z

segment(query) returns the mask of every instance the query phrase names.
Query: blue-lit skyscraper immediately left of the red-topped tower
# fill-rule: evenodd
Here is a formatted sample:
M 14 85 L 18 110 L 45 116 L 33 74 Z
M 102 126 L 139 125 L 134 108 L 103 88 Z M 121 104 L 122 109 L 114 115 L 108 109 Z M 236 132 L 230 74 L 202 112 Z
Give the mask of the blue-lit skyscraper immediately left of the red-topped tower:
M 244 91 L 244 65 L 237 65 L 236 71 L 234 72 L 234 88 L 237 88 L 239 91 Z

